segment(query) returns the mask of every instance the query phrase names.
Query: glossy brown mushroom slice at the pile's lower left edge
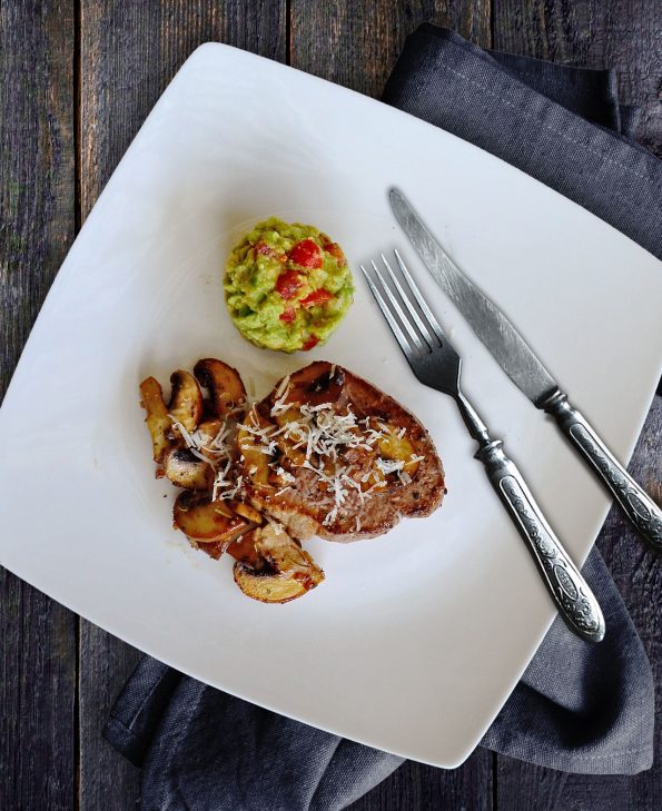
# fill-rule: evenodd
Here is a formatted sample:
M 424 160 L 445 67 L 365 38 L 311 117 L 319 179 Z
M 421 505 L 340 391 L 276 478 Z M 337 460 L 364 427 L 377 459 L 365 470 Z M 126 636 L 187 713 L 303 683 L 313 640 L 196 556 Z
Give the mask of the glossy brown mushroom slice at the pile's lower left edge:
M 250 526 L 246 518 L 233 513 L 225 502 L 213 502 L 207 495 L 189 491 L 177 496 L 172 518 L 175 526 L 200 544 L 231 541 Z

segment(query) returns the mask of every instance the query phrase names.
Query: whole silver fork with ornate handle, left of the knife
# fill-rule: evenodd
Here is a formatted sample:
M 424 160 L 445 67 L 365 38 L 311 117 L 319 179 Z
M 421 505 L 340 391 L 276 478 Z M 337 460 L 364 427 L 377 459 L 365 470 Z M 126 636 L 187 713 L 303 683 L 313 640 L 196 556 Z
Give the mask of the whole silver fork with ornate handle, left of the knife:
M 490 436 L 485 423 L 462 393 L 460 355 L 444 335 L 397 250 L 395 259 L 399 273 L 382 254 L 391 284 L 374 260 L 372 271 L 364 265 L 360 269 L 412 372 L 425 386 L 455 399 L 468 433 L 478 443 L 475 456 L 484 464 L 492 486 L 526 542 L 561 616 L 577 636 L 600 642 L 604 636 L 604 617 L 597 600 L 554 535 L 516 465 L 505 455 L 503 443 Z

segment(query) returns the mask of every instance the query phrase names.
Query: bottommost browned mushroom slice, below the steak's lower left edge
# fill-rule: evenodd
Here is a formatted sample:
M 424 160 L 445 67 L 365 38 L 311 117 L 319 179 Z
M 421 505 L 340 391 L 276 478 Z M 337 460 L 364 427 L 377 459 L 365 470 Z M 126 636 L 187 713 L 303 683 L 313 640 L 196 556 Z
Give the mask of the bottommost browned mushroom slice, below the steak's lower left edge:
M 265 524 L 241 538 L 244 544 L 250 541 L 259 556 L 258 565 L 237 561 L 234 571 L 235 583 L 247 596 L 263 603 L 287 603 L 324 580 L 324 572 L 310 555 L 283 528 Z

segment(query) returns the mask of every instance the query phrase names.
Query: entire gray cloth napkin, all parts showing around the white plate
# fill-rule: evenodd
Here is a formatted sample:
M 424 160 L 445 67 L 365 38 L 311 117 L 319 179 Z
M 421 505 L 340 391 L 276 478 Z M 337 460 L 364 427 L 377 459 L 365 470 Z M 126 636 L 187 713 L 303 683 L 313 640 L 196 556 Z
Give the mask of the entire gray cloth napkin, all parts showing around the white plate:
M 424 26 L 408 38 L 385 100 L 518 166 L 662 255 L 662 166 L 625 137 L 635 116 L 619 105 L 612 72 L 490 56 Z M 556 620 L 482 745 L 564 771 L 633 774 L 652 763 L 651 669 L 596 550 L 583 571 L 605 614 L 604 641 L 582 643 Z M 105 736 L 142 767 L 142 811 L 337 811 L 402 763 L 149 657 Z

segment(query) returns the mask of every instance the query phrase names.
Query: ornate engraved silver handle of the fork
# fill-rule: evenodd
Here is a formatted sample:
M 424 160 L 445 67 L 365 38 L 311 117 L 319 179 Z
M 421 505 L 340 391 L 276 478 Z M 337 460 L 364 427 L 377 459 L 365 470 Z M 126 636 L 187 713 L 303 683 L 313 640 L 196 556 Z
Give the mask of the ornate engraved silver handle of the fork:
M 571 631 L 589 642 L 604 636 L 604 617 L 589 584 L 545 521 L 515 463 L 494 439 L 476 452 L 540 570 L 559 613 Z

